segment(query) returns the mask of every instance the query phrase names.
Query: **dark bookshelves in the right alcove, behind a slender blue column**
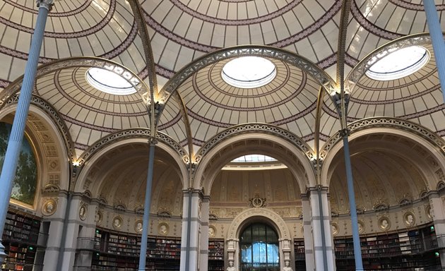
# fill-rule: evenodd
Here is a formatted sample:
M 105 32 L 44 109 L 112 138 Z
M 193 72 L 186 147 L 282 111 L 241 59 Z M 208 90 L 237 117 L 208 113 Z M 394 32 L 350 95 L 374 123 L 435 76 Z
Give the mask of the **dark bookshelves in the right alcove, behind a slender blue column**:
M 428 247 L 436 238 L 434 227 L 361 236 L 364 270 L 439 270 L 437 250 Z M 334 239 L 337 270 L 355 267 L 352 237 Z M 439 268 L 439 269 L 437 269 Z

